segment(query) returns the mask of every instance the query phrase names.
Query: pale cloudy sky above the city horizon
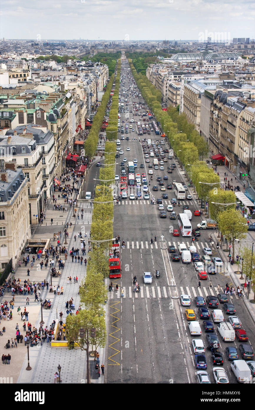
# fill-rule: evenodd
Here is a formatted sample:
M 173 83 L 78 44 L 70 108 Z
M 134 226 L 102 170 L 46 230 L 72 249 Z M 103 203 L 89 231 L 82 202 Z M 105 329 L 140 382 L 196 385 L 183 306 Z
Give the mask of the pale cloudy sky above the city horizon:
M 255 38 L 254 0 L 0 0 L 6 39 L 195 40 L 219 32 Z

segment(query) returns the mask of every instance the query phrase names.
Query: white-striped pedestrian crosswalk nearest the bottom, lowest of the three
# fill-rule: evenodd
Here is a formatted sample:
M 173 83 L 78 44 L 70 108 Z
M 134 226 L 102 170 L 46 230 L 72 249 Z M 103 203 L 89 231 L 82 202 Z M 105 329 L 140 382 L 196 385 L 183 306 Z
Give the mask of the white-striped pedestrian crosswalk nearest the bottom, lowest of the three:
M 194 298 L 196 296 L 203 296 L 203 298 L 206 298 L 206 296 L 217 296 L 219 292 L 224 293 L 223 288 L 220 288 L 220 290 L 217 290 L 217 287 L 210 287 L 210 286 L 201 286 L 201 288 L 197 288 L 196 286 L 186 286 L 186 287 L 174 287 L 171 286 L 151 286 L 151 285 L 144 285 L 140 286 L 140 292 L 133 292 L 135 286 L 129 286 L 129 287 L 123 287 L 122 289 L 124 290 L 124 296 L 123 298 L 157 298 L 157 299 L 166 299 L 166 298 L 171 298 L 171 294 L 173 295 L 175 290 L 177 290 L 177 295 L 180 297 L 182 294 L 190 296 L 191 301 L 194 301 Z M 171 293 L 170 293 L 171 289 Z M 111 301 L 112 299 L 120 299 L 120 289 L 117 291 L 113 290 L 112 292 L 108 293 L 108 299 Z M 232 299 L 238 299 L 237 294 L 232 294 L 232 296 L 228 295 L 228 298 L 230 300 Z M 220 307 L 219 307 L 220 309 Z

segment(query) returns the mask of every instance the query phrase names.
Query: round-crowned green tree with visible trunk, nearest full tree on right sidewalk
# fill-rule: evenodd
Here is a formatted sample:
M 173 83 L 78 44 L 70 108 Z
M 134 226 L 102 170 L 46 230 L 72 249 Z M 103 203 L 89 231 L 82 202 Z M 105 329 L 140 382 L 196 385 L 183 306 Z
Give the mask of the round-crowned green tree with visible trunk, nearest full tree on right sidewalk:
M 233 209 L 219 212 L 218 228 L 232 244 L 232 257 L 235 258 L 235 239 L 245 239 L 248 232 L 246 219 Z

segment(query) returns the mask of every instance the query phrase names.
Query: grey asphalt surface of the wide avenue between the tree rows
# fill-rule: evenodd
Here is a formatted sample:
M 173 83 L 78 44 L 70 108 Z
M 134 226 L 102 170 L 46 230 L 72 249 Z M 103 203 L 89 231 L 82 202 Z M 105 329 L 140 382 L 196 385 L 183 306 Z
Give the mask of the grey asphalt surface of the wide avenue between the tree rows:
M 123 63 L 122 63 L 123 64 Z M 127 66 L 127 64 L 126 64 Z M 121 83 L 123 84 L 123 82 Z M 125 84 L 124 87 L 128 88 Z M 130 99 L 130 96 L 128 97 Z M 133 99 L 131 101 L 138 101 Z M 141 100 L 141 98 L 140 98 Z M 125 104 L 124 104 L 125 105 Z M 129 105 L 132 107 L 132 104 Z M 141 112 L 142 110 L 139 110 Z M 129 114 L 131 118 L 139 121 L 140 116 Z M 120 122 L 125 119 L 125 113 L 121 114 Z M 124 134 L 126 137 L 126 134 Z M 137 135 L 129 134 L 132 137 Z M 146 137 L 146 135 L 144 135 Z M 151 132 L 151 140 L 162 139 L 160 135 Z M 142 146 L 138 141 L 121 141 L 121 148 L 124 154 L 121 157 L 127 157 L 127 160 L 138 159 L 137 173 L 149 171 L 148 163 L 145 162 Z M 126 147 L 130 151 L 126 151 Z M 166 147 L 166 146 L 165 146 Z M 168 147 L 169 148 L 169 147 Z M 150 158 L 152 163 L 152 159 Z M 169 160 L 173 162 L 175 160 Z M 120 162 L 116 166 L 116 173 L 121 174 Z M 126 162 L 127 164 L 127 162 Z M 144 169 L 140 169 L 140 164 L 144 164 Z M 180 171 L 176 162 L 176 168 L 173 173 L 167 173 L 167 165 L 164 163 L 164 171 L 154 171 L 153 183 L 156 185 L 156 176 L 168 175 L 166 183 L 176 180 L 187 185 L 183 172 Z M 135 172 L 135 173 L 136 173 Z M 127 172 L 128 175 L 128 172 Z M 149 179 L 148 179 L 149 180 Z M 158 184 L 157 184 L 158 185 Z M 166 206 L 170 204 L 170 199 L 174 198 L 173 190 L 166 190 L 168 199 L 163 200 Z M 155 194 L 155 198 L 162 198 L 160 187 L 158 191 L 150 193 Z M 193 196 L 192 189 L 186 191 L 186 195 L 191 194 L 192 200 L 181 200 L 181 207 L 176 206 L 176 214 L 182 212 L 183 205 L 189 205 L 190 210 L 199 209 L 199 205 Z M 106 380 L 107 383 L 196 383 L 194 365 L 194 353 L 191 348 L 192 337 L 187 327 L 188 321 L 185 317 L 185 307 L 181 306 L 180 295 L 188 294 L 191 298 L 190 309 L 193 309 L 196 316 L 198 308 L 194 304 L 194 297 L 201 295 L 204 298 L 207 295 L 217 295 L 217 285 L 221 289 L 226 283 L 231 286 L 231 280 L 226 271 L 208 275 L 207 280 L 201 280 L 201 289 L 198 289 L 198 275 L 194 269 L 194 262 L 183 264 L 172 262 L 170 254 L 167 251 L 169 244 L 177 248 L 179 243 L 191 244 L 191 237 L 173 237 L 169 233 L 169 227 L 173 225 L 178 229 L 178 222 L 169 219 L 170 212 L 167 212 L 167 219 L 159 217 L 158 205 L 150 205 L 149 200 L 122 200 L 119 205 L 114 207 L 114 236 L 120 235 L 120 240 L 124 239 L 125 248 L 121 248 L 122 278 L 114 280 L 113 284 L 118 284 L 119 288 L 124 289 L 124 298 L 120 298 L 120 290 L 111 292 L 108 300 L 108 339 L 106 349 Z M 192 217 L 192 228 L 201 221 L 201 217 Z M 209 246 L 208 236 L 211 230 L 201 230 L 201 237 L 195 243 L 200 256 L 203 255 L 202 248 Z M 163 241 L 160 237 L 163 235 Z M 157 237 L 156 243 L 151 238 Z M 213 255 L 219 256 L 216 250 Z M 155 271 L 160 271 L 160 278 L 155 278 Z M 151 285 L 144 285 L 143 272 L 150 271 L 153 275 Z M 133 293 L 133 276 L 136 276 L 141 286 L 140 294 Z M 212 289 L 209 288 L 209 280 L 212 280 Z M 178 296 L 172 298 L 171 296 Z M 249 342 L 255 346 L 255 325 L 250 319 L 248 310 L 241 299 L 236 295 L 230 297 L 230 302 L 235 305 L 236 315 L 239 317 L 242 328 L 249 336 Z M 222 305 L 218 306 L 222 309 Z M 209 308 L 211 311 L 211 309 Z M 228 321 L 228 315 L 224 313 L 225 321 Z M 206 333 L 202 327 L 202 320 L 199 320 L 202 329 L 201 339 L 206 340 Z M 209 320 L 212 320 L 211 318 Z M 214 333 L 218 335 L 217 323 L 214 324 Z M 218 351 L 223 353 L 223 368 L 226 370 L 230 383 L 236 383 L 232 372 L 230 371 L 230 362 L 227 360 L 225 353 L 226 346 L 235 346 L 239 353 L 239 342 L 236 339 L 233 343 L 225 343 L 220 339 Z M 205 349 L 207 360 L 207 371 L 210 375 L 211 383 L 214 383 L 212 375 L 212 360 L 210 351 Z M 239 358 L 240 355 L 239 355 Z

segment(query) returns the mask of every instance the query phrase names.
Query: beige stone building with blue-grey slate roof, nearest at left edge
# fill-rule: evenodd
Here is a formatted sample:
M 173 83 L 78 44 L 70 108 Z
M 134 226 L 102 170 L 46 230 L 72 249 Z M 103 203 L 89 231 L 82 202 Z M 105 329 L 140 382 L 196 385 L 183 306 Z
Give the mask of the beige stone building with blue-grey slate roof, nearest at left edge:
M 16 162 L 0 169 L 0 269 L 15 265 L 30 237 L 28 180 Z

